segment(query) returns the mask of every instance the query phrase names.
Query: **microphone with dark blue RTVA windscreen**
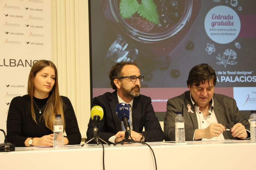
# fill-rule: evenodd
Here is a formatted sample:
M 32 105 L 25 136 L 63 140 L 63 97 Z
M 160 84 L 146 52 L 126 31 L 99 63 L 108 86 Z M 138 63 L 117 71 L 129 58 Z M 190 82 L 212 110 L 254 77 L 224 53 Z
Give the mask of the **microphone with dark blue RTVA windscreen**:
M 117 104 L 117 106 L 116 106 L 116 113 L 117 113 L 117 116 L 121 119 L 121 121 L 124 122 L 127 134 L 129 136 L 131 136 L 130 124 L 128 122 L 129 117 L 130 117 L 129 106 L 126 103 L 119 103 L 119 104 Z

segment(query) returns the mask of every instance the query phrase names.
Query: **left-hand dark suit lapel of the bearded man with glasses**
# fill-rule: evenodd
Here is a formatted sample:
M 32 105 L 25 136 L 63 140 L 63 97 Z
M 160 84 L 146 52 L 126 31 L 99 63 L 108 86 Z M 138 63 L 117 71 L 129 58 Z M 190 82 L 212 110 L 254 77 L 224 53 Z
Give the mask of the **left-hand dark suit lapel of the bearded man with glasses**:
M 110 99 L 111 100 L 110 100 L 109 104 L 110 104 L 110 108 L 111 108 L 111 112 L 112 112 L 112 116 L 113 116 L 114 126 L 116 128 L 116 131 L 119 132 L 119 131 L 122 131 L 122 123 L 116 113 L 116 106 L 119 103 L 118 98 L 117 98 L 117 91 L 114 91 L 111 94 Z

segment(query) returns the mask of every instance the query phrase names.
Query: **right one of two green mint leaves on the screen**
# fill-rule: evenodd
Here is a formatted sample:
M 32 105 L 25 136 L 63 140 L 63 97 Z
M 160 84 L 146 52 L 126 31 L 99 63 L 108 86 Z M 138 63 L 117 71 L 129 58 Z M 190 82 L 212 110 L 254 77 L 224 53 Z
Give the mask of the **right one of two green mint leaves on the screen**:
M 137 12 L 140 16 L 146 18 L 149 22 L 159 24 L 158 13 L 153 0 L 142 0 Z

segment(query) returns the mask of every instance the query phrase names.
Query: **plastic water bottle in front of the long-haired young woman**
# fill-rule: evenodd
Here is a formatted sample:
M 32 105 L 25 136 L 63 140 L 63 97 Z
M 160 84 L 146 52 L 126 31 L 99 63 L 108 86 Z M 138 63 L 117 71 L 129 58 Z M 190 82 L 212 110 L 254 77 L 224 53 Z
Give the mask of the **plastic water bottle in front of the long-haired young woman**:
M 63 145 L 63 121 L 61 119 L 61 114 L 56 114 L 53 122 L 53 147 L 63 148 Z

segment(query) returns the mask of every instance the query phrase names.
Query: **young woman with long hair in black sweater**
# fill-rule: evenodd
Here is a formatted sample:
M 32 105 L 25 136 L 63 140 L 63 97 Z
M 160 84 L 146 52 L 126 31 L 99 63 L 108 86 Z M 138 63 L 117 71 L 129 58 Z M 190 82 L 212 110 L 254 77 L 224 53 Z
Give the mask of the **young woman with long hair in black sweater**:
M 7 117 L 7 139 L 16 147 L 53 146 L 53 121 L 61 114 L 64 145 L 80 144 L 81 133 L 70 100 L 60 96 L 53 62 L 39 60 L 31 67 L 28 94 L 12 99 Z

